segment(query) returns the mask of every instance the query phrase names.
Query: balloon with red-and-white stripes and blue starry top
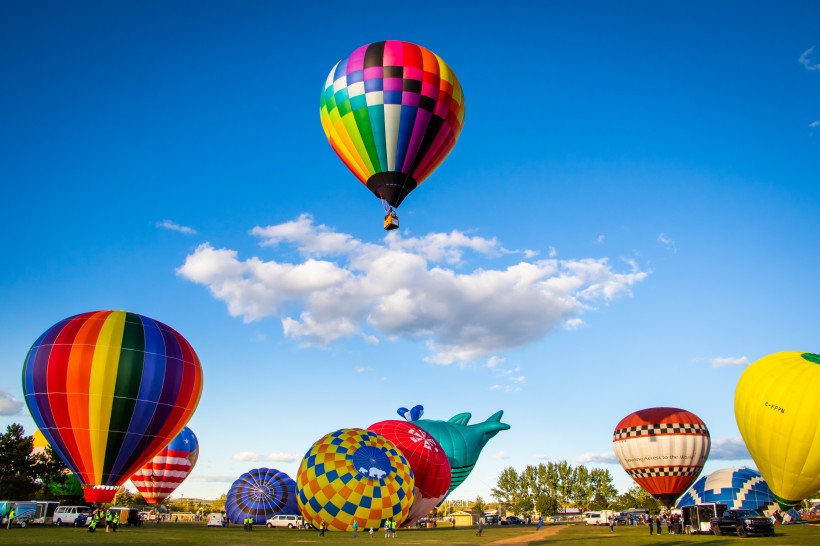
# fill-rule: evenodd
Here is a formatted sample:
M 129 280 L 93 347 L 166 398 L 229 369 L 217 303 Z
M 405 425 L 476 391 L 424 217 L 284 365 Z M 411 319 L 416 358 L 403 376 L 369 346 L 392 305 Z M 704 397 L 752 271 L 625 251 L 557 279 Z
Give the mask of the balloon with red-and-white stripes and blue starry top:
M 131 476 L 131 482 L 148 504 L 160 504 L 179 487 L 199 458 L 199 441 L 185 427 L 153 459 Z

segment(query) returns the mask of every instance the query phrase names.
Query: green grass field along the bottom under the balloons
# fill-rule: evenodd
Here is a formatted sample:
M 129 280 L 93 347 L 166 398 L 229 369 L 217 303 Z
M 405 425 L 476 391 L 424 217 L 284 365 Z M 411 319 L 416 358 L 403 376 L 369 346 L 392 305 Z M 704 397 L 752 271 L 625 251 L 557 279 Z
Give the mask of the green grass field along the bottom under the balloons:
M 562 526 L 556 533 L 547 533 L 547 529 L 535 532 L 529 527 L 486 527 L 483 536 L 475 536 L 475 528 L 446 529 L 410 529 L 398 532 L 393 541 L 402 544 L 491 544 L 505 540 L 508 544 L 529 542 L 531 545 L 563 544 L 565 546 L 583 546 L 586 544 L 606 544 L 609 546 L 632 546 L 663 544 L 664 546 L 693 545 L 732 545 L 738 542 L 758 545 L 818 545 L 820 544 L 820 526 L 815 525 L 778 525 L 774 537 L 748 538 L 716 537 L 713 535 L 649 535 L 646 527 L 620 527 L 610 532 L 608 527 L 584 527 L 582 525 Z M 143 527 L 120 527 L 116 533 L 97 530 L 89 533 L 82 528 L 29 526 L 6 530 L 0 529 L 0 544 L 32 544 L 37 546 L 52 544 L 191 544 L 191 545 L 245 545 L 245 544 L 359 544 L 370 541 L 369 535 L 360 533 L 358 539 L 353 533 L 327 532 L 324 537 L 317 531 L 268 529 L 255 527 L 247 532 L 241 526 L 227 528 L 207 528 L 202 524 L 163 523 Z M 384 532 L 375 533 L 373 541 L 384 541 Z M 391 544 L 393 543 L 391 542 Z

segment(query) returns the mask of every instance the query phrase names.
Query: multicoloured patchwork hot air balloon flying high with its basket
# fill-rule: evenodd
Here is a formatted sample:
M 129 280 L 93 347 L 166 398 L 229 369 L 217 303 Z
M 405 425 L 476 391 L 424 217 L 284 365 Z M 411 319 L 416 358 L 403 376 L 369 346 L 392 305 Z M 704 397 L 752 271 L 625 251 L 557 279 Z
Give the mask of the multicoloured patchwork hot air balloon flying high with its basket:
M 364 45 L 336 63 L 319 115 L 333 150 L 385 203 L 384 228 L 395 229 L 393 208 L 455 146 L 464 124 L 464 96 L 441 57 L 388 40 Z

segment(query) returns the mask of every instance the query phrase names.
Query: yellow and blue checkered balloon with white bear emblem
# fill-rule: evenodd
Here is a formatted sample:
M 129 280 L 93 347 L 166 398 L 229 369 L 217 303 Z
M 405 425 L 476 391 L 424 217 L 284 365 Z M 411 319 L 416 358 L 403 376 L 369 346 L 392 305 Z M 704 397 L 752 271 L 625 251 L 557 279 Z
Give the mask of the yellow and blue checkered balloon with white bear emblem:
M 387 438 L 359 428 L 326 434 L 311 446 L 296 477 L 297 502 L 305 520 L 329 530 L 399 526 L 413 504 L 410 465 Z

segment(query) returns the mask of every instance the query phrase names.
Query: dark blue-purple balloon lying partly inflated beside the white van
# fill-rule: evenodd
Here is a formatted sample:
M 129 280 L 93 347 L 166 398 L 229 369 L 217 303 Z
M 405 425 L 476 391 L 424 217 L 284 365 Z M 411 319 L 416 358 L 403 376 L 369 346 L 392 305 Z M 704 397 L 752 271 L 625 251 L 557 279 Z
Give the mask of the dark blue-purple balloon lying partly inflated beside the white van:
M 275 468 L 255 468 L 233 482 L 225 500 L 225 512 L 233 523 L 253 518 L 256 525 L 277 514 L 299 514 L 296 482 Z

